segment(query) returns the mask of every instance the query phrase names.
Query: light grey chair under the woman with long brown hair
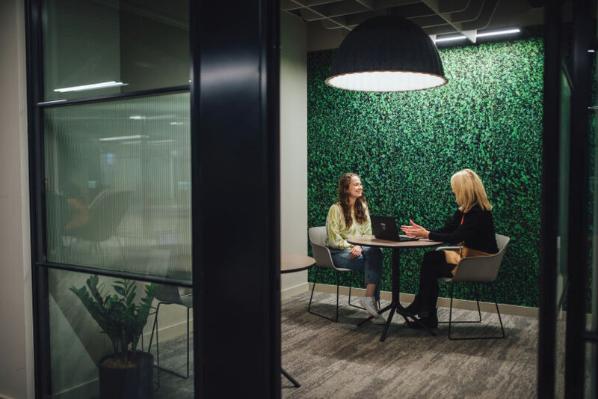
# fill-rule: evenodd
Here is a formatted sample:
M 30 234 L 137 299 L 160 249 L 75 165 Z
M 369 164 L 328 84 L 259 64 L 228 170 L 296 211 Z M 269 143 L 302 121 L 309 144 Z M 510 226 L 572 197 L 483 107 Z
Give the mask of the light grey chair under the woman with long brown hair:
M 311 287 L 311 295 L 309 297 L 309 305 L 307 305 L 307 311 L 313 315 L 323 317 L 327 320 L 334 321 L 335 323 L 338 321 L 338 294 L 339 294 L 339 277 L 340 273 L 344 272 L 353 272 L 351 269 L 344 269 L 340 267 L 336 267 L 334 265 L 334 261 L 332 260 L 332 255 L 330 253 L 330 248 L 326 246 L 326 226 L 318 226 L 318 227 L 310 227 L 308 230 L 309 234 L 309 242 L 311 244 L 312 255 L 316 260 L 315 264 L 315 276 L 314 282 Z M 311 310 L 311 303 L 314 297 L 314 289 L 316 288 L 316 281 L 318 280 L 318 273 L 320 269 L 328 268 L 334 270 L 334 274 L 336 276 L 336 316 L 334 318 L 323 315 L 321 313 L 316 313 Z M 365 310 L 363 307 L 352 304 L 351 303 L 351 286 L 349 285 L 349 306 L 354 308 Z

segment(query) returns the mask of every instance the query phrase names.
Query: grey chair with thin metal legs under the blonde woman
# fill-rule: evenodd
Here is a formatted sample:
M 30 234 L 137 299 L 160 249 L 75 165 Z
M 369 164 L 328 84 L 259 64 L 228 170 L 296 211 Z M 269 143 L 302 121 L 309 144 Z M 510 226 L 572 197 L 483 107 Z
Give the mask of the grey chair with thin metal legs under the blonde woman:
M 449 307 L 449 319 L 447 321 L 441 321 L 439 323 L 448 323 L 449 331 L 448 331 L 448 338 L 450 340 L 469 340 L 469 339 L 502 339 L 505 338 L 505 329 L 502 324 L 502 319 L 500 317 L 500 310 L 498 309 L 498 302 L 496 301 L 496 291 L 494 289 L 494 281 L 498 276 L 498 271 L 500 269 L 500 264 L 502 263 L 502 259 L 505 256 L 505 252 L 507 250 L 507 245 L 509 244 L 510 238 L 507 236 L 503 236 L 500 234 L 496 234 L 496 244 L 498 245 L 498 252 L 491 256 L 475 256 L 471 258 L 463 258 L 457 265 L 457 272 L 452 278 L 445 278 L 442 279 L 445 282 L 450 283 L 450 295 L 451 295 L 451 302 Z M 450 247 L 439 247 L 436 250 L 441 251 L 444 249 L 459 249 L 460 247 L 450 246 Z M 465 320 L 465 321 L 453 321 L 453 291 L 455 287 L 455 283 L 474 283 L 476 284 L 476 302 L 478 305 L 478 315 L 479 320 Z M 494 305 L 496 306 L 496 313 L 498 315 L 498 321 L 500 322 L 500 330 L 502 332 L 499 336 L 477 336 L 477 337 L 454 337 L 451 332 L 451 327 L 453 324 L 463 324 L 463 323 L 481 323 L 482 322 L 482 312 L 480 310 L 480 292 L 478 285 L 484 283 L 488 284 L 492 288 L 492 295 L 494 296 Z

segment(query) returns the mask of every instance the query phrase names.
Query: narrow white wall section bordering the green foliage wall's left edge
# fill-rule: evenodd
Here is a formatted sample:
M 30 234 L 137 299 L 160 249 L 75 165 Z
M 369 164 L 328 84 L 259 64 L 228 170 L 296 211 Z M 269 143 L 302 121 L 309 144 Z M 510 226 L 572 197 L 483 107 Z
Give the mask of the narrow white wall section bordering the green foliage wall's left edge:
M 306 28 L 281 13 L 280 206 L 281 250 L 307 254 Z M 282 275 L 282 296 L 307 290 L 307 272 Z

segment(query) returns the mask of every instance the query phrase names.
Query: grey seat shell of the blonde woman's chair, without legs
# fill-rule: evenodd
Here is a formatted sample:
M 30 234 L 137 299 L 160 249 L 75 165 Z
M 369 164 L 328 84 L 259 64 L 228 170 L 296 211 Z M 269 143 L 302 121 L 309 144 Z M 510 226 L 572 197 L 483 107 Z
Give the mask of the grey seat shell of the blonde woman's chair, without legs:
M 501 234 L 496 235 L 498 252 L 491 256 L 463 258 L 459 262 L 453 281 L 492 282 L 498 276 L 500 264 L 505 256 L 507 245 L 511 239 Z

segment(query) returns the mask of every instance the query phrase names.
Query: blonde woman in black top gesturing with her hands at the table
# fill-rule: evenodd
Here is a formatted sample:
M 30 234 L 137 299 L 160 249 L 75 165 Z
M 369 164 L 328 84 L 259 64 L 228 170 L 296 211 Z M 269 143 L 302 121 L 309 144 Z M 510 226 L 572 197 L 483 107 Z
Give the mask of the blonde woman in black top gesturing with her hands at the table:
M 480 177 L 471 169 L 460 170 L 451 177 L 451 189 L 458 209 L 443 228 L 430 231 L 413 220 L 410 220 L 408 226 L 401 226 L 408 236 L 462 245 L 460 251 L 432 251 L 424 255 L 419 292 L 406 311 L 412 316 L 419 316 L 421 324 L 428 328 L 438 326 L 438 278 L 451 277 L 455 272 L 455 265 L 462 257 L 498 252 L 492 205 Z M 418 327 L 418 324 L 411 326 Z

